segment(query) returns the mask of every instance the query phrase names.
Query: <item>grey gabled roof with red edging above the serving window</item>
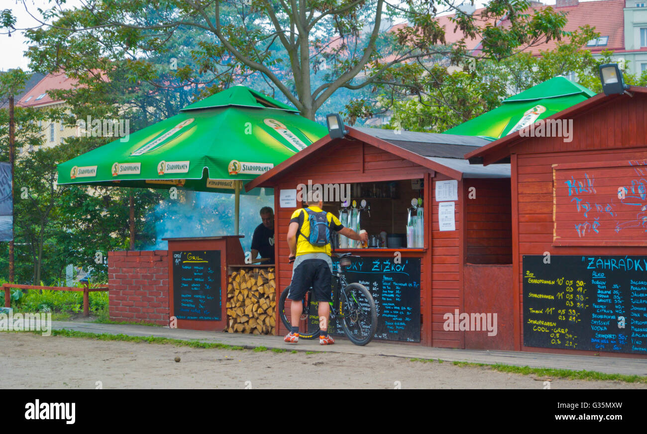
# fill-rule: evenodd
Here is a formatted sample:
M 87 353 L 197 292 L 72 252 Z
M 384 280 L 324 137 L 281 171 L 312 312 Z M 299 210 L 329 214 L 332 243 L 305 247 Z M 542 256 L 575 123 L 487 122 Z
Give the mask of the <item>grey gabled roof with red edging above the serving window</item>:
M 245 184 L 245 190 L 250 191 L 254 187 L 270 186 L 272 180 L 276 180 L 293 165 L 324 152 L 327 147 L 336 145 L 340 140 L 364 141 L 378 149 L 456 180 L 463 178 L 510 178 L 510 164 L 483 167 L 483 165 L 470 165 L 463 157 L 466 152 L 485 147 L 490 143 L 486 139 L 429 132 L 401 131 L 398 133 L 396 130 L 365 127 L 346 126 L 345 128 L 348 130 L 348 134 L 344 138 L 331 139 L 330 135 L 322 137 L 306 149 Z

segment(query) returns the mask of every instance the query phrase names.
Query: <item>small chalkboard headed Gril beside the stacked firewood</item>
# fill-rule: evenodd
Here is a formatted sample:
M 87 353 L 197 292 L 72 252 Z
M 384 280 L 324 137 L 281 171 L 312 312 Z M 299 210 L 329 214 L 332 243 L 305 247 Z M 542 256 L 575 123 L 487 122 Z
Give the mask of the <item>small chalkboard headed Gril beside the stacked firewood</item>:
M 222 307 L 220 251 L 173 251 L 173 315 L 218 321 Z

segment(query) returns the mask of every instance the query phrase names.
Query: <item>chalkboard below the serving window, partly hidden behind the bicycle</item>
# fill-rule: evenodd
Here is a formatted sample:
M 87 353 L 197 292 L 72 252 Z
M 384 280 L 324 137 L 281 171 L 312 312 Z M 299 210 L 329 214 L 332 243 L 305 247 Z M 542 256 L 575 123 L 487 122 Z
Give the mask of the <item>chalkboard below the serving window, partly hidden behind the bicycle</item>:
M 420 258 L 353 258 L 345 271 L 347 283 L 362 284 L 369 290 L 377 309 L 374 339 L 420 342 Z M 333 259 L 336 270 L 338 260 Z M 334 278 L 333 278 L 334 281 Z M 316 303 L 311 306 L 311 324 L 318 325 Z M 344 333 L 340 321 L 331 322 L 329 333 Z

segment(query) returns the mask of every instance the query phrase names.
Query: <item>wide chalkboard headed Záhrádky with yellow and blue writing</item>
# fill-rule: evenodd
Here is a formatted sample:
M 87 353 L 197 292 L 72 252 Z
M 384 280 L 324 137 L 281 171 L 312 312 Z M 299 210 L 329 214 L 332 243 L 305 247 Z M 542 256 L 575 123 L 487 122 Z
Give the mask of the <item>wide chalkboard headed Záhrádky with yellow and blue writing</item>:
M 523 256 L 523 344 L 647 354 L 647 256 Z

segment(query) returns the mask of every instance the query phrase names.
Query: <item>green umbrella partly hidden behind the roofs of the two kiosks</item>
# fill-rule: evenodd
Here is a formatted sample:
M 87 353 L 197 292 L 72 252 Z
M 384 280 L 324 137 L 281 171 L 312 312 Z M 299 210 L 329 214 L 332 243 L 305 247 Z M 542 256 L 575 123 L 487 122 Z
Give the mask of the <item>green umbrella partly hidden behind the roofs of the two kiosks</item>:
M 500 139 L 594 95 L 592 90 L 564 77 L 551 78 L 504 99 L 501 106 L 448 129 L 443 134 Z

